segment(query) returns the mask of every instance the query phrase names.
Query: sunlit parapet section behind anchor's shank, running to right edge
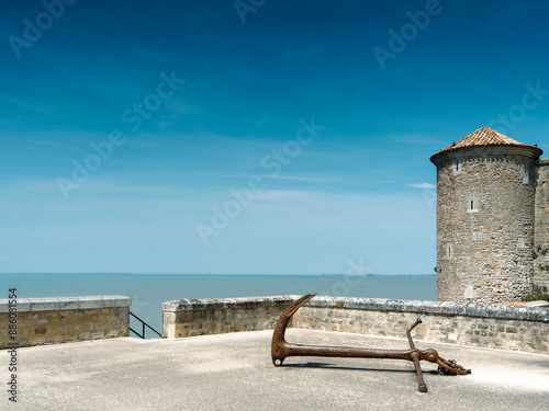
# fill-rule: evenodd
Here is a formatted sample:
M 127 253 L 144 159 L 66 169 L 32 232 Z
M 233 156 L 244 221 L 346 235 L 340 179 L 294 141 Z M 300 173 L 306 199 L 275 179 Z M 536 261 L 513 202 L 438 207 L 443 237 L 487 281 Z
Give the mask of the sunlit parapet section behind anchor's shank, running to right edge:
M 293 327 L 549 354 L 549 307 L 498 304 L 316 297 Z

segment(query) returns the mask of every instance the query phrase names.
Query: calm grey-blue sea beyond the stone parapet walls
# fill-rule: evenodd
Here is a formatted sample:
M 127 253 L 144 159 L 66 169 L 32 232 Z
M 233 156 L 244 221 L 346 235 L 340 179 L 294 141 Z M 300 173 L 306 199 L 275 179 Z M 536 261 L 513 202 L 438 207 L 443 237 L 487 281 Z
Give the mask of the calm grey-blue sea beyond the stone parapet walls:
M 131 312 L 161 332 L 163 302 L 316 293 L 322 296 L 436 300 L 436 275 L 0 274 L 0 299 L 123 295 Z M 2 296 L 3 294 L 3 296 Z M 142 326 L 131 317 L 130 327 Z M 158 338 L 147 329 L 146 338 Z

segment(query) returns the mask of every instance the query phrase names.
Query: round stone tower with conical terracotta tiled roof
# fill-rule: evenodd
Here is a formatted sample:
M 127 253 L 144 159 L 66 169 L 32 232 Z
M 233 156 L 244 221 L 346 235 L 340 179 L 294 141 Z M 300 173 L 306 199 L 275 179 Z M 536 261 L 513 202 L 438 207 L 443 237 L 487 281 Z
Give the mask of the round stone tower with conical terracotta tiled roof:
M 482 127 L 430 158 L 438 300 L 519 301 L 529 292 L 541 153 Z

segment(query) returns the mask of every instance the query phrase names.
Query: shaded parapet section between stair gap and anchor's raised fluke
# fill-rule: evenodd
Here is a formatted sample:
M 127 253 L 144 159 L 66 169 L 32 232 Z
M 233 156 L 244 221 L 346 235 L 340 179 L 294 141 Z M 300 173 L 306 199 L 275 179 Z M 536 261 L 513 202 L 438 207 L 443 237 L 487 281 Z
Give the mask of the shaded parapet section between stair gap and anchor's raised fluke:
M 273 329 L 295 296 L 178 299 L 163 304 L 163 335 L 173 339 Z

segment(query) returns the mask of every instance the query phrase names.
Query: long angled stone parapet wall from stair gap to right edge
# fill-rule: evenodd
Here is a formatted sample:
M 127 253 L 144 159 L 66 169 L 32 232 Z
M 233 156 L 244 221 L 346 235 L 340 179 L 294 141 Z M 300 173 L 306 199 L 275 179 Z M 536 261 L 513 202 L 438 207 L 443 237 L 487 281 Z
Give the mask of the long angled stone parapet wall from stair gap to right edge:
M 163 305 L 168 338 L 273 329 L 300 296 L 175 300 Z M 549 308 L 497 304 L 315 297 L 291 327 L 549 354 Z

